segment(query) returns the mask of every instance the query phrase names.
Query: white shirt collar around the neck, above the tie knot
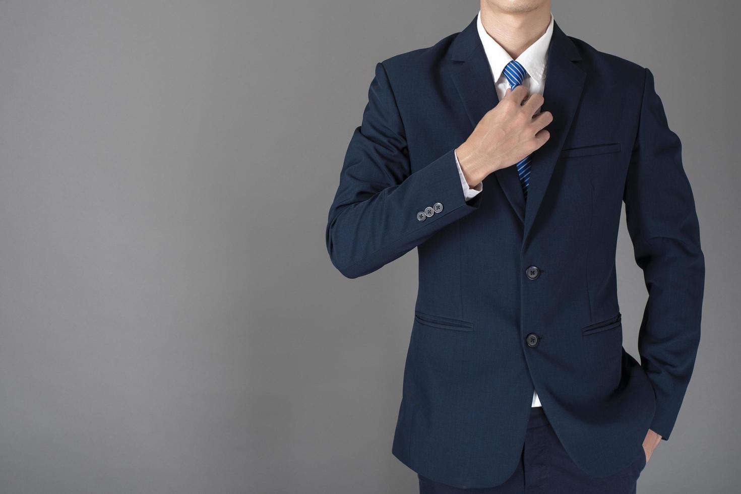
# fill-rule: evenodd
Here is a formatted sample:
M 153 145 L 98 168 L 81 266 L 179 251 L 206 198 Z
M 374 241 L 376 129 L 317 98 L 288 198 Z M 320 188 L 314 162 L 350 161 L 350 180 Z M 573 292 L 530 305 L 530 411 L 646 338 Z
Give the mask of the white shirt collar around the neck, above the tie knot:
M 479 38 L 484 45 L 484 51 L 486 58 L 489 61 L 489 67 L 491 67 L 491 75 L 494 77 L 494 81 L 499 80 L 502 76 L 502 70 L 505 70 L 506 65 L 512 61 L 512 57 L 509 53 L 502 48 L 502 45 L 494 41 L 494 38 L 489 36 L 489 33 L 484 29 L 484 24 L 481 22 L 481 11 L 476 16 L 476 27 L 479 30 Z M 551 12 L 551 22 L 548 24 L 548 29 L 545 30 L 543 36 L 540 36 L 536 41 L 531 44 L 520 56 L 517 57 L 517 61 L 525 67 L 528 72 L 528 76 L 535 79 L 539 84 L 543 83 L 545 79 L 545 65 L 548 61 L 548 45 L 551 44 L 551 36 L 554 33 L 554 15 Z

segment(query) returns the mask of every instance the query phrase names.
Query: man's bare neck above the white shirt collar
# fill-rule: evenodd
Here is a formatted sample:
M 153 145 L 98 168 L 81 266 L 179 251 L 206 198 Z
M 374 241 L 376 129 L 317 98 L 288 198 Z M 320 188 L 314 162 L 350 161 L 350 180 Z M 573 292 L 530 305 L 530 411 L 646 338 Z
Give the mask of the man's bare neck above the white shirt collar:
M 516 59 L 548 29 L 551 2 L 529 12 L 506 12 L 482 0 L 481 22 L 488 35 Z

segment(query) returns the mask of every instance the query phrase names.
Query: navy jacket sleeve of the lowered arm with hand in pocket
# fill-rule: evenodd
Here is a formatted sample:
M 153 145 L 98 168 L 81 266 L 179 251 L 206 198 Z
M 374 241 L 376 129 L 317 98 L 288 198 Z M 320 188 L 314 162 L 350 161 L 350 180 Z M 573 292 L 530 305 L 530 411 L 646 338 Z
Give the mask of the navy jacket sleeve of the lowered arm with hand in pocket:
M 635 259 L 648 290 L 638 351 L 656 394 L 651 430 L 668 439 L 700 344 L 705 258 L 682 145 L 668 127 L 648 68 L 624 200 Z

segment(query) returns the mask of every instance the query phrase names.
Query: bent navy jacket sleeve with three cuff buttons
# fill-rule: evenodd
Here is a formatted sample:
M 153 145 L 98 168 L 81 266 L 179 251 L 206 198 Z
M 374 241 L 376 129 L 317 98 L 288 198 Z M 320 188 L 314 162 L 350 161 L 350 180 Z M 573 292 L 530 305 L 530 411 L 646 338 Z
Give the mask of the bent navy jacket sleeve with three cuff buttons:
M 412 173 L 405 129 L 385 67 L 376 64 L 362 122 L 353 131 L 325 230 L 332 264 L 348 278 L 372 273 L 473 212 L 454 150 Z M 442 211 L 417 215 L 442 204 Z

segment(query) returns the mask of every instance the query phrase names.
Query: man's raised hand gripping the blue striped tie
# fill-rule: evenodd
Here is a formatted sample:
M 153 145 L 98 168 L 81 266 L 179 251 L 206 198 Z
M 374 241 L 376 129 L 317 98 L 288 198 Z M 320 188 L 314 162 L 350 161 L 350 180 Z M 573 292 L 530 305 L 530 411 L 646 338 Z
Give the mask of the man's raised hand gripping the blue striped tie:
M 490 173 L 510 167 L 545 144 L 551 134 L 543 129 L 553 121 L 551 112 L 534 116 L 543 96 L 532 94 L 522 84 L 507 90 L 496 107 L 489 110 L 471 136 L 456 149 L 463 176 L 476 187 Z

